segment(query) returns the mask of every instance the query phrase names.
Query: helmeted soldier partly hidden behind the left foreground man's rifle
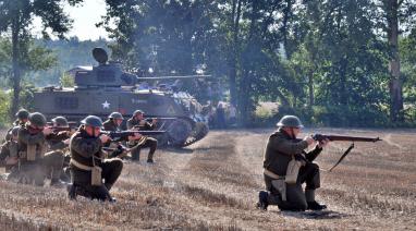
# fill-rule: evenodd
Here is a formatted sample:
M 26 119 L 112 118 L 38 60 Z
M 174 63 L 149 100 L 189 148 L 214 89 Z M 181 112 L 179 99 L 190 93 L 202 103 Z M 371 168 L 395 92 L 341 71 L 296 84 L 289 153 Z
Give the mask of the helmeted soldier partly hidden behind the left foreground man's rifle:
M 120 112 L 112 112 L 106 122 L 102 123 L 103 130 L 109 132 L 121 132 L 121 124 L 123 123 L 123 115 Z M 139 133 L 134 134 L 134 136 L 129 136 L 129 141 L 138 141 L 142 138 L 142 135 Z M 120 157 L 121 155 L 126 154 L 129 150 L 124 146 L 121 145 L 120 142 L 118 143 L 107 143 L 105 144 L 106 147 L 113 146 L 114 151 L 109 154 L 109 157 Z

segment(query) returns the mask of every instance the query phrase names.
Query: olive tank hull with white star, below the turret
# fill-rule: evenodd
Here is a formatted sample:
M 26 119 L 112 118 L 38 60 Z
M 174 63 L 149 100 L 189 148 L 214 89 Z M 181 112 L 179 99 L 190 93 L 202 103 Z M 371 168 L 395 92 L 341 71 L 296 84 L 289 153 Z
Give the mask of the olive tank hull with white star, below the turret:
M 35 93 L 34 104 L 34 110 L 42 112 L 48 120 L 63 115 L 75 123 L 89 114 L 107 119 L 113 111 L 129 119 L 135 110 L 140 109 L 146 118 L 158 118 L 157 130 L 167 131 L 166 135 L 156 137 L 162 146 L 187 146 L 208 133 L 207 123 L 196 120 L 200 117 L 189 112 L 179 99 L 161 92 L 44 89 Z

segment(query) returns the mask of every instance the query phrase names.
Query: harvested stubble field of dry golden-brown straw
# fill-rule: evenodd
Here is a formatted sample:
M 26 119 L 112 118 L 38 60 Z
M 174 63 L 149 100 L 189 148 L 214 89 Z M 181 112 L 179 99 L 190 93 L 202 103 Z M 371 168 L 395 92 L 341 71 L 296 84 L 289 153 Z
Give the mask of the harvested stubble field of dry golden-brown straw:
M 315 131 L 384 139 L 356 143 L 333 172 L 321 173 L 323 212 L 255 208 L 270 132 L 211 131 L 187 148 L 158 150 L 154 166 L 126 162 L 112 190 L 117 204 L 72 202 L 65 190 L 0 182 L 0 230 L 416 229 L 416 131 Z M 348 145 L 331 143 L 317 161 L 329 169 Z

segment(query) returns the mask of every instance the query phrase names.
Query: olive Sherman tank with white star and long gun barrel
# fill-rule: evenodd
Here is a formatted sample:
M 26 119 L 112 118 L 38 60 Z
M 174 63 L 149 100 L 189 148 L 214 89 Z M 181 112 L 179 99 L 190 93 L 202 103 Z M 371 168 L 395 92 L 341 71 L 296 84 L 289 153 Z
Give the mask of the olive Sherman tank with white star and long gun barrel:
M 75 86 L 44 87 L 34 94 L 34 110 L 47 119 L 64 115 L 78 122 L 88 114 L 106 119 L 119 111 L 129 118 L 137 109 L 145 117 L 157 118 L 157 130 L 166 131 L 158 138 L 160 145 L 184 147 L 208 134 L 208 123 L 201 105 L 189 94 L 170 87 L 144 87 L 139 83 L 163 80 L 205 77 L 207 75 L 138 77 L 123 71 L 120 63 L 108 62 L 102 48 L 93 49 L 98 62 L 91 69 L 78 69 L 74 73 Z

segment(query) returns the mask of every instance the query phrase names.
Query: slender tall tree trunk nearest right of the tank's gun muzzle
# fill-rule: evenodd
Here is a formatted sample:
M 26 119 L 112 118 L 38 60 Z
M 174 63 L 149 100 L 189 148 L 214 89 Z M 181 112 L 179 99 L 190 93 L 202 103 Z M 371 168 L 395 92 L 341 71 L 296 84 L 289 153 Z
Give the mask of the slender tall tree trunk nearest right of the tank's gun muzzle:
M 237 52 L 238 52 L 238 31 L 240 31 L 240 17 L 241 17 L 241 0 L 233 0 L 232 3 L 232 21 L 233 22 L 233 40 L 231 49 L 230 60 L 230 101 L 234 106 L 236 105 L 236 76 L 237 76 Z

